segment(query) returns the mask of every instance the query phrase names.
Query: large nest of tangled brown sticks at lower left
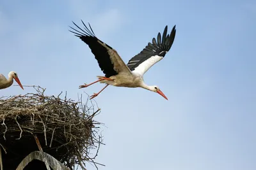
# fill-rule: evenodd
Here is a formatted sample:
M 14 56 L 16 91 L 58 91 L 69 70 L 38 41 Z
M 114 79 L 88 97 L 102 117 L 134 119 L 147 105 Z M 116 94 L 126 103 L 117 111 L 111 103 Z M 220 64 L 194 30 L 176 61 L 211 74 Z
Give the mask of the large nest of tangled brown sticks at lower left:
M 93 120 L 92 101 L 85 104 L 64 99 L 60 95 L 45 96 L 45 89 L 35 87 L 36 94 L 0 97 L 0 145 L 3 163 L 15 169 L 24 157 L 38 150 L 35 136 L 42 150 L 70 169 L 86 169 L 86 162 L 94 162 L 102 139 L 100 123 Z M 94 151 L 92 150 L 94 149 Z M 94 154 L 90 152 L 94 152 Z

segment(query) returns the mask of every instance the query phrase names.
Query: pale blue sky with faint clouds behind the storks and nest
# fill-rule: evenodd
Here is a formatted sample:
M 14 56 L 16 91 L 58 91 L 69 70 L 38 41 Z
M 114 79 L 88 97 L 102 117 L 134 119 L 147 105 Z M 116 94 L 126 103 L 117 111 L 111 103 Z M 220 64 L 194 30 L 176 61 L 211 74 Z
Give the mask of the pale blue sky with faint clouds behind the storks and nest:
M 106 124 L 100 169 L 256 169 L 255 1 L 0 1 L 0 73 L 17 71 L 23 85 L 49 95 L 98 92 L 104 85 L 78 89 L 102 75 L 90 48 L 68 32 L 80 19 L 125 62 L 177 25 L 170 52 L 144 78 L 168 101 L 118 87 L 95 98 L 96 120 Z M 32 91 L 10 87 L 0 96 Z

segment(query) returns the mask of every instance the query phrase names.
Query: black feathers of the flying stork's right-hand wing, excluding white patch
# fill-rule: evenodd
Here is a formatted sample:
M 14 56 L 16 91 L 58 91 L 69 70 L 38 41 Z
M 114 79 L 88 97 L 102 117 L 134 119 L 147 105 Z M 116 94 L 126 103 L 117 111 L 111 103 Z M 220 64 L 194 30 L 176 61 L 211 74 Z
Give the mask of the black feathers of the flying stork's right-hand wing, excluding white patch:
M 154 55 L 159 55 L 161 57 L 164 57 L 165 54 L 170 50 L 172 47 L 173 41 L 175 39 L 176 34 L 176 25 L 174 25 L 172 32 L 170 34 L 167 34 L 167 25 L 164 28 L 163 36 L 161 39 L 160 32 L 157 34 L 157 40 L 156 38 L 152 39 L 152 43 L 148 43 L 148 45 L 137 55 L 132 57 L 131 60 L 129 60 L 127 66 L 131 71 L 133 71 L 136 67 L 138 67 L 142 62 L 149 59 L 150 57 Z

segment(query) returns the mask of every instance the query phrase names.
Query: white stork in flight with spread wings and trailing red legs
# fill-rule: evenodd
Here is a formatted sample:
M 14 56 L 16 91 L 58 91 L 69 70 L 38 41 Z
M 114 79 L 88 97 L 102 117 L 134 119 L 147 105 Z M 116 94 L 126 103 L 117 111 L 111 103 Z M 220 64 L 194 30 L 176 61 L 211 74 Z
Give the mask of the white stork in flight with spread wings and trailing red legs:
M 132 57 L 128 64 L 125 65 L 124 61 L 118 55 L 116 50 L 98 39 L 95 36 L 90 24 L 90 29 L 88 29 L 83 20 L 81 21 L 84 25 L 84 30 L 73 22 L 73 24 L 76 25 L 79 30 L 70 27 L 73 30 L 70 32 L 82 39 L 82 41 L 84 41 L 84 43 L 91 48 L 92 53 L 95 55 L 95 59 L 97 59 L 99 67 L 105 76 L 97 76 L 99 80 L 90 84 L 80 85 L 79 89 L 88 87 L 100 81 L 100 83 L 107 84 L 102 90 L 106 89 L 108 85 L 113 85 L 116 87 L 141 87 L 152 92 L 157 92 L 167 99 L 159 87 L 156 85 L 148 86 L 144 83 L 143 74 L 146 73 L 150 67 L 159 62 L 159 60 L 163 59 L 166 53 L 170 50 L 175 38 L 176 25 L 174 25 L 170 34 L 167 34 L 168 27 L 166 25 L 162 38 L 159 32 L 157 35 L 157 40 L 153 38 L 152 43 L 148 43 L 148 45 L 140 53 Z M 102 92 L 102 90 L 100 90 L 100 92 Z M 100 92 L 94 93 L 90 99 L 98 96 Z

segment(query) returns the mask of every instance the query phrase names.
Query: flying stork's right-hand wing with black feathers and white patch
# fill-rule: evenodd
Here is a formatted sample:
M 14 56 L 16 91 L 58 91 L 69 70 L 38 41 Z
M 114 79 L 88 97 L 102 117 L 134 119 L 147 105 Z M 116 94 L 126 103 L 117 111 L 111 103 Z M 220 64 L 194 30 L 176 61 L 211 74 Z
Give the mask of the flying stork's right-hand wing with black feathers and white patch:
M 159 32 L 157 35 L 157 40 L 156 38 L 153 38 L 152 43 L 148 43 L 148 45 L 140 53 L 129 60 L 127 64 L 129 69 L 132 72 L 143 75 L 148 71 L 148 69 L 150 69 L 150 67 L 159 62 L 159 60 L 163 59 L 163 57 L 172 47 L 176 34 L 175 27 L 176 25 L 174 25 L 172 32 L 169 35 L 167 34 L 168 27 L 166 25 L 162 38 Z

